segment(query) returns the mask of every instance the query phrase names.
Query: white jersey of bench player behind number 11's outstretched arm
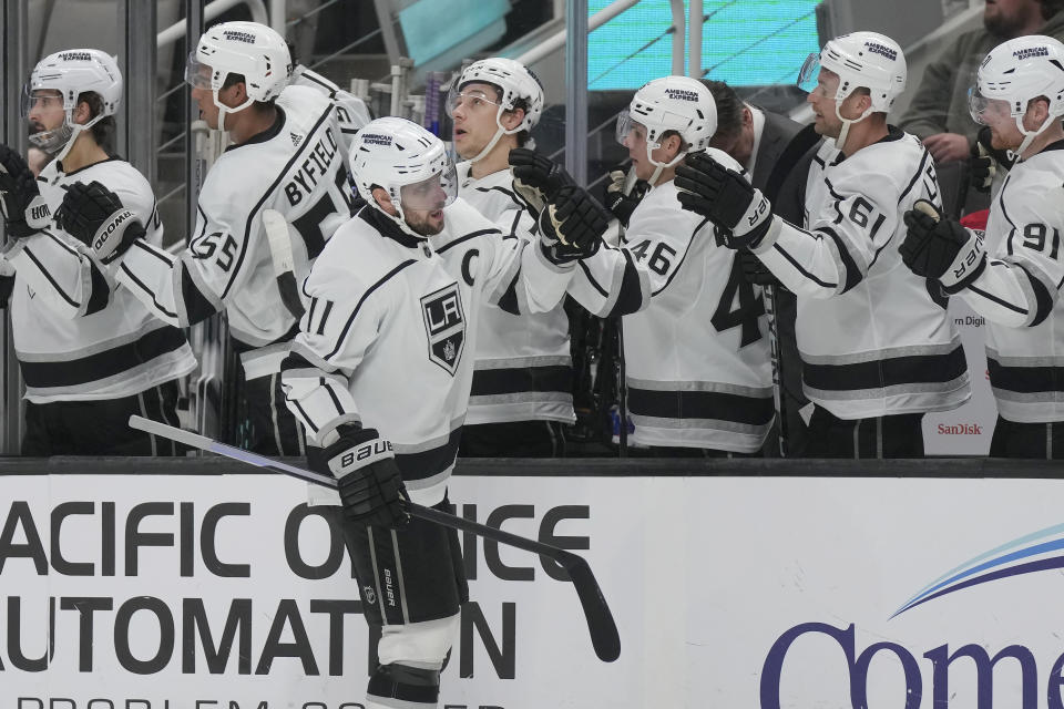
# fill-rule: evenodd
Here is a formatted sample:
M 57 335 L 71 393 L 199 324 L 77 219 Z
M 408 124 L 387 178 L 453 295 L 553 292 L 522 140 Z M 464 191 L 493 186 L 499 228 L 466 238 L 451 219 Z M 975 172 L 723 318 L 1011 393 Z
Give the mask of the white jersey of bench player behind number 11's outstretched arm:
M 502 232 L 500 238 L 538 238 L 535 217 L 513 192 L 513 176 L 501 169 L 479 179 L 459 163 L 459 195 Z M 481 306 L 473 384 L 467 423 L 564 421 L 572 423 L 573 361 L 569 317 L 559 304 L 550 312 L 507 312 Z

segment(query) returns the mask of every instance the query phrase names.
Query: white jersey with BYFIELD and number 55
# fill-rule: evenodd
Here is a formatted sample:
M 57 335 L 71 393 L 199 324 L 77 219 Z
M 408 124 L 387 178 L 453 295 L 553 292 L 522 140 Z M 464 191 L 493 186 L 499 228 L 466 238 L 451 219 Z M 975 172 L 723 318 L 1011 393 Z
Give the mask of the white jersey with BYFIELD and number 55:
M 280 297 L 263 212 L 284 215 L 299 282 L 354 204 L 332 103 L 288 86 L 277 109 L 269 130 L 231 145 L 207 173 L 188 248 L 174 257 L 136 243 L 116 276 L 171 325 L 225 308 L 248 379 L 278 370 L 298 325 Z

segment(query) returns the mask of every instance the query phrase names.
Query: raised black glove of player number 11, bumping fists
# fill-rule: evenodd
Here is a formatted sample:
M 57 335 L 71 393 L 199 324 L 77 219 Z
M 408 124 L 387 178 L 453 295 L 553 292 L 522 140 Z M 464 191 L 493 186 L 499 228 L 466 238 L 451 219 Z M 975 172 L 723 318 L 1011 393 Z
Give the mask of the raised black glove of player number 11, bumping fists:
M 561 187 L 540 213 L 540 245 L 554 264 L 571 264 L 594 256 L 610 215 L 594 197 L 576 185 Z

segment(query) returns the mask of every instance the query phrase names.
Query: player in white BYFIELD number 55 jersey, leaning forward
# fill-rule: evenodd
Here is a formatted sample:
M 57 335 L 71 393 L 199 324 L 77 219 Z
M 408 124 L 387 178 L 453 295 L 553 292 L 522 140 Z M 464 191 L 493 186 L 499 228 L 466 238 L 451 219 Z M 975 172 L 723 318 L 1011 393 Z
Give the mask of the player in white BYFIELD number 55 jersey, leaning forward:
M 298 455 L 303 431 L 284 405 L 278 374 L 304 309 L 296 284 L 350 217 L 354 197 L 336 109 L 318 91 L 288 86 L 290 69 L 284 40 L 263 24 L 225 22 L 200 38 L 185 78 L 204 120 L 232 145 L 203 183 L 188 248 L 174 257 L 134 240 L 117 256 L 115 278 L 171 325 L 188 327 L 224 309 L 245 378 L 238 443 Z M 287 222 L 280 236 L 293 269 L 275 267 L 267 210 Z

